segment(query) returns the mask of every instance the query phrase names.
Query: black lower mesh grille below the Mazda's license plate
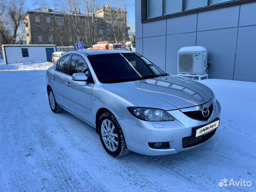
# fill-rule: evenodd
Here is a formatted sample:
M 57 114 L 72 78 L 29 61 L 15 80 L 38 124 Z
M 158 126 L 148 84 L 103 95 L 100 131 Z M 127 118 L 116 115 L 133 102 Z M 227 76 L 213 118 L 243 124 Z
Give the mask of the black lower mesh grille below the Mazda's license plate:
M 204 143 L 208 139 L 210 139 L 214 135 L 215 132 L 216 132 L 216 129 L 212 130 L 210 133 L 206 133 L 205 135 L 202 135 L 199 137 L 184 137 L 184 138 L 182 138 L 182 147 L 189 148 L 189 147 Z

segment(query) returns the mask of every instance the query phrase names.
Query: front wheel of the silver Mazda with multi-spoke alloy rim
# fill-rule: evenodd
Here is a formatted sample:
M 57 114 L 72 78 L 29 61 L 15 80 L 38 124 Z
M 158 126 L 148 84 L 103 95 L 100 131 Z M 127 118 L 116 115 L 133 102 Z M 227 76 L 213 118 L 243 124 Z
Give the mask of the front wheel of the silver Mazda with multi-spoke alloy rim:
M 126 155 L 127 149 L 123 131 L 114 115 L 103 113 L 98 123 L 99 135 L 104 149 L 113 157 Z

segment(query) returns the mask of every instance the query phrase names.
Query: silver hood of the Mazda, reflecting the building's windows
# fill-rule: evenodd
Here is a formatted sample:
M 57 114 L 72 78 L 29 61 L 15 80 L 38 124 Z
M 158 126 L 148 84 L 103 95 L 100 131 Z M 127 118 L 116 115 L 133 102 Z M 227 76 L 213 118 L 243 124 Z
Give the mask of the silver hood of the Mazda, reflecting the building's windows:
M 208 102 L 212 97 L 209 87 L 177 76 L 104 84 L 139 107 L 174 110 Z

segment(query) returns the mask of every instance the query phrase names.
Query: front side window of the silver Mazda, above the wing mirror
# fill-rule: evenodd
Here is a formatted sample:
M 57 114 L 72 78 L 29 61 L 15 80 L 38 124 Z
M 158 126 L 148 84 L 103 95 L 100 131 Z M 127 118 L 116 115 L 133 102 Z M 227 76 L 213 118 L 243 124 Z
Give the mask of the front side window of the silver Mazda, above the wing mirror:
M 72 55 L 69 75 L 73 75 L 73 73 L 86 73 L 88 71 L 88 66 L 85 63 L 84 59 L 78 55 Z

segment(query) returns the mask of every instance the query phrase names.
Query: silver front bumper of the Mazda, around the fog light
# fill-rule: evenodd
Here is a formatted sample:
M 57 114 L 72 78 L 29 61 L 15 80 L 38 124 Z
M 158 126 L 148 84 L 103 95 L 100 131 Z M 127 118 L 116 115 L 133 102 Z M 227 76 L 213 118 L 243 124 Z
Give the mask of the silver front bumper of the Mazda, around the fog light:
M 126 119 L 118 119 L 118 122 L 122 127 L 129 150 L 144 155 L 168 155 L 193 149 L 202 145 L 198 144 L 188 148 L 183 148 L 182 138 L 186 138 L 187 140 L 185 140 L 187 142 L 193 140 L 192 128 L 207 125 L 213 120 L 220 118 L 220 111 L 221 107 L 219 102 L 217 100 L 213 100 L 213 113 L 208 121 L 192 119 L 180 110 L 173 110 L 167 112 L 175 118 L 175 121 L 148 122 L 139 120 L 130 114 Z M 205 135 L 209 134 L 208 136 L 211 137 L 215 131 L 216 129 L 213 129 Z M 203 137 L 203 135 L 199 137 Z M 203 143 L 210 137 L 204 138 Z M 149 143 L 163 142 L 169 142 L 170 148 L 154 149 L 149 147 Z

